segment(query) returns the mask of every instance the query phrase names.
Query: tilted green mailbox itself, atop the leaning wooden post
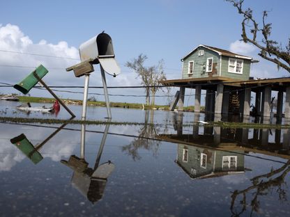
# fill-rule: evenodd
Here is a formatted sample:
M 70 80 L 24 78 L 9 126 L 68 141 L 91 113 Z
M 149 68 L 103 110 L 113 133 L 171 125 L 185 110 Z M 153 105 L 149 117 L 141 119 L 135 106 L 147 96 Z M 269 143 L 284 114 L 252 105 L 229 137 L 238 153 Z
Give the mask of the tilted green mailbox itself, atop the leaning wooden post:
M 34 72 L 36 72 L 38 77 L 42 79 L 45 74 L 47 74 L 48 70 L 43 65 L 38 66 L 36 70 L 31 72 L 25 79 L 20 81 L 20 83 L 15 84 L 14 88 L 23 94 L 29 93 L 29 90 L 31 90 L 31 88 L 33 88 L 36 83 L 38 83 L 38 79 L 33 74 Z

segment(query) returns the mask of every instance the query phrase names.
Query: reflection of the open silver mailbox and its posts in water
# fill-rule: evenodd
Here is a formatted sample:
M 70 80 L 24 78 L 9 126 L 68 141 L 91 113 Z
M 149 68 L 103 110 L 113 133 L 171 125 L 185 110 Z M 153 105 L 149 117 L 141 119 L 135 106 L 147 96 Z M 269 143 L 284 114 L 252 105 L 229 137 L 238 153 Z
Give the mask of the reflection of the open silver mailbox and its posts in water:
M 96 156 L 96 162 L 92 168 L 89 168 L 89 163 L 87 163 L 85 159 L 85 124 L 82 124 L 81 130 L 81 156 L 72 155 L 68 161 L 61 160 L 61 163 L 73 170 L 71 184 L 92 203 L 98 202 L 98 200 L 102 198 L 107 184 L 107 178 L 115 167 L 114 163 L 111 161 L 100 164 L 100 158 L 105 146 L 108 131 L 109 124 L 106 124 L 98 155 Z

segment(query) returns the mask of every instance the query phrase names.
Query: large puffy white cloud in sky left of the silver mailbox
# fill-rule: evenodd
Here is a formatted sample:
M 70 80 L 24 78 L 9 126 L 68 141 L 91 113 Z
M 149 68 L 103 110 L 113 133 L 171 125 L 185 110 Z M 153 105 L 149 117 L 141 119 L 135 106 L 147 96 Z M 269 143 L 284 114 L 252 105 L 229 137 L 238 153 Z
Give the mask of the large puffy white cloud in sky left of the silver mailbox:
M 18 26 L 7 24 L 6 26 L 0 26 L 0 50 L 0 65 L 13 66 L 0 67 L 1 81 L 17 83 L 20 78 L 29 74 L 33 67 L 40 64 L 49 70 L 49 74 L 44 78 L 45 81 L 63 80 L 69 83 L 74 81 L 72 74 L 68 74 L 65 69 L 77 63 L 76 60 L 69 58 L 79 58 L 79 54 L 77 48 L 69 47 L 67 42 L 59 42 L 57 45 L 53 45 L 47 43 L 46 40 L 40 40 L 39 43 L 35 44 L 29 36 L 22 33 Z M 46 56 L 17 54 L 9 51 Z M 61 56 L 64 58 L 47 56 Z

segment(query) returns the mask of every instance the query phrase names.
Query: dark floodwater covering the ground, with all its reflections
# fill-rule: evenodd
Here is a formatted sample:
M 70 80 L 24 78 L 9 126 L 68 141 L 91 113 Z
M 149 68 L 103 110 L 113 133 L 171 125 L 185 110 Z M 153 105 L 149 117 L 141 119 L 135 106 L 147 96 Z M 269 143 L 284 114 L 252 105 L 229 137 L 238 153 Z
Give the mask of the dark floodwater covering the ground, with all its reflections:
M 70 118 L 17 104 L 1 101 L 1 117 Z M 70 109 L 79 118 L 82 107 Z M 289 129 L 192 127 L 205 115 L 168 111 L 112 116 L 143 124 L 0 122 L 0 216 L 290 216 Z

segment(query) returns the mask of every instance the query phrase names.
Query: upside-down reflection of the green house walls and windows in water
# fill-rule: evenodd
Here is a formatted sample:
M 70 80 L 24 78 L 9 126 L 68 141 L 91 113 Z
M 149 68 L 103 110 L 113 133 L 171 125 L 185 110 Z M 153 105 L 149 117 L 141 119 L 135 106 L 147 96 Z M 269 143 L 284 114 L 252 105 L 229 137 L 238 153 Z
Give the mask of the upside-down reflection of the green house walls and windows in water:
M 208 147 L 178 144 L 176 163 L 193 179 L 204 179 L 245 171 L 244 155 Z

